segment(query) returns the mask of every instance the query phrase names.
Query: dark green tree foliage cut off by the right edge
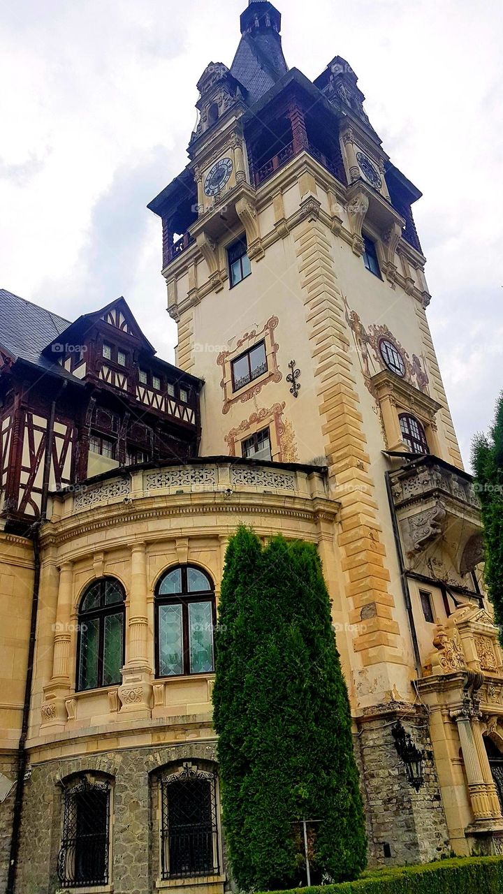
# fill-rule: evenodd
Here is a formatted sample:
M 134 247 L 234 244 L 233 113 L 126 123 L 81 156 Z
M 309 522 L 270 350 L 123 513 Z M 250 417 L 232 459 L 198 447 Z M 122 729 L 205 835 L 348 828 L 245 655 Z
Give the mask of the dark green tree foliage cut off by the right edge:
M 475 486 L 482 506 L 485 580 L 503 639 L 503 394 L 490 434 L 473 442 Z

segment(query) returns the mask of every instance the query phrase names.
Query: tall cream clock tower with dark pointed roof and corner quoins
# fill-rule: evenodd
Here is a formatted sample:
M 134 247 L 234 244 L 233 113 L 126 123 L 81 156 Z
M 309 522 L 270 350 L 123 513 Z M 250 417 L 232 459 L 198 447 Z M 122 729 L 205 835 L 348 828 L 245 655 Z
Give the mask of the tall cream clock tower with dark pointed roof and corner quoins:
M 230 68 L 209 63 L 200 77 L 189 164 L 149 204 L 162 220 L 177 364 L 205 383 L 203 456 L 326 469 L 338 514 L 319 548 L 367 795 L 382 797 L 369 749 L 391 768 L 390 724 L 413 716 L 439 758 L 435 784 L 465 806 L 461 816 L 446 800 L 446 827 L 440 808 L 409 805 L 419 838 L 396 860 L 438 855 L 447 834 L 468 852 L 459 829 L 474 816 L 482 830 L 482 814 L 442 763 L 459 747 L 443 682 L 431 683 L 432 654 L 447 646 L 429 625 L 457 642 L 451 616 L 482 598 L 480 522 L 465 524 L 471 510 L 447 505 L 438 485 L 447 476 L 472 500 L 426 314 L 421 192 L 388 156 L 345 59 L 311 81 L 286 65 L 280 30 L 273 4 L 249 3 Z M 445 722 L 429 727 L 433 704 Z M 371 822 L 379 860 L 386 826 Z

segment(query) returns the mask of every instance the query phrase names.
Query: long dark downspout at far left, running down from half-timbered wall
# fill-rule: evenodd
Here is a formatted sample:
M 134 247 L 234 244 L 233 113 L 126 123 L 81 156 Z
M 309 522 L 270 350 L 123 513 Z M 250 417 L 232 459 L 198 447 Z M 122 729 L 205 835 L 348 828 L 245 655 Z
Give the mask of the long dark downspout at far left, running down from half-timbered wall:
M 13 831 L 11 838 L 11 852 L 9 858 L 9 872 L 7 875 L 7 887 L 5 894 L 14 894 L 17 864 L 19 856 L 22 802 L 24 796 L 24 777 L 28 763 L 26 754 L 26 739 L 28 738 L 28 724 L 30 721 L 31 685 L 33 682 L 33 659 L 35 656 L 35 642 L 37 637 L 38 593 L 40 589 L 40 526 L 47 520 L 47 497 L 49 493 L 49 477 L 54 444 L 55 405 L 61 392 L 64 391 L 66 382 L 63 383 L 51 403 L 49 421 L 47 425 L 46 454 L 44 457 L 44 474 L 42 478 L 42 494 L 40 497 L 40 514 L 38 519 L 30 527 L 30 536 L 33 542 L 33 595 L 31 598 L 30 642 L 28 645 L 28 667 L 26 671 L 26 685 L 24 687 L 24 702 L 22 705 L 21 736 L 18 746 L 17 779 L 13 809 Z

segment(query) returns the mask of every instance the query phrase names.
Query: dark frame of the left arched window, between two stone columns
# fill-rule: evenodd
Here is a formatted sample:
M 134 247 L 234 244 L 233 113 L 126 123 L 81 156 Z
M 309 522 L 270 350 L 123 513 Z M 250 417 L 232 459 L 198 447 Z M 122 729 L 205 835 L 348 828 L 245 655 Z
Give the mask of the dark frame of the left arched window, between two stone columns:
M 122 602 L 111 603 L 107 605 L 107 583 L 113 582 L 115 585 L 120 587 L 120 590 L 123 594 Z M 90 609 L 89 611 L 81 611 L 81 604 L 84 602 L 86 596 L 90 592 L 92 586 L 96 586 L 96 584 L 100 585 L 100 594 L 99 594 L 99 605 L 96 609 Z M 122 614 L 123 620 L 123 642 L 122 642 L 122 661 L 121 667 L 124 666 L 125 660 L 125 599 L 126 594 L 124 590 L 124 586 L 121 584 L 118 578 L 114 578 L 112 575 L 106 575 L 103 578 L 96 578 L 95 580 L 91 580 L 90 583 L 84 587 L 84 590 L 81 594 L 81 598 L 79 600 L 79 611 L 77 613 L 77 660 L 75 662 L 75 692 L 95 692 L 97 689 L 107 689 L 110 686 L 120 686 L 122 679 L 118 680 L 116 683 L 104 683 L 103 682 L 103 671 L 104 671 L 104 657 L 105 657 L 105 623 L 106 619 L 110 615 L 118 614 L 119 612 Z M 97 668 L 97 680 L 98 685 L 93 687 L 84 688 L 81 686 L 81 646 L 82 646 L 82 618 L 84 620 L 95 620 L 98 618 L 98 668 Z

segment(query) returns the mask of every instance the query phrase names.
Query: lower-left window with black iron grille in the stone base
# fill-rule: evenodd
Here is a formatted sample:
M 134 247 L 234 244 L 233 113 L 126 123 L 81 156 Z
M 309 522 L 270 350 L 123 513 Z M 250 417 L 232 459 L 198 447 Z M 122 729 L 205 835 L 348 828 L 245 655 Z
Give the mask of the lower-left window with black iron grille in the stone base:
M 63 839 L 57 874 L 63 888 L 106 885 L 109 873 L 111 781 L 73 777 L 64 789 Z

